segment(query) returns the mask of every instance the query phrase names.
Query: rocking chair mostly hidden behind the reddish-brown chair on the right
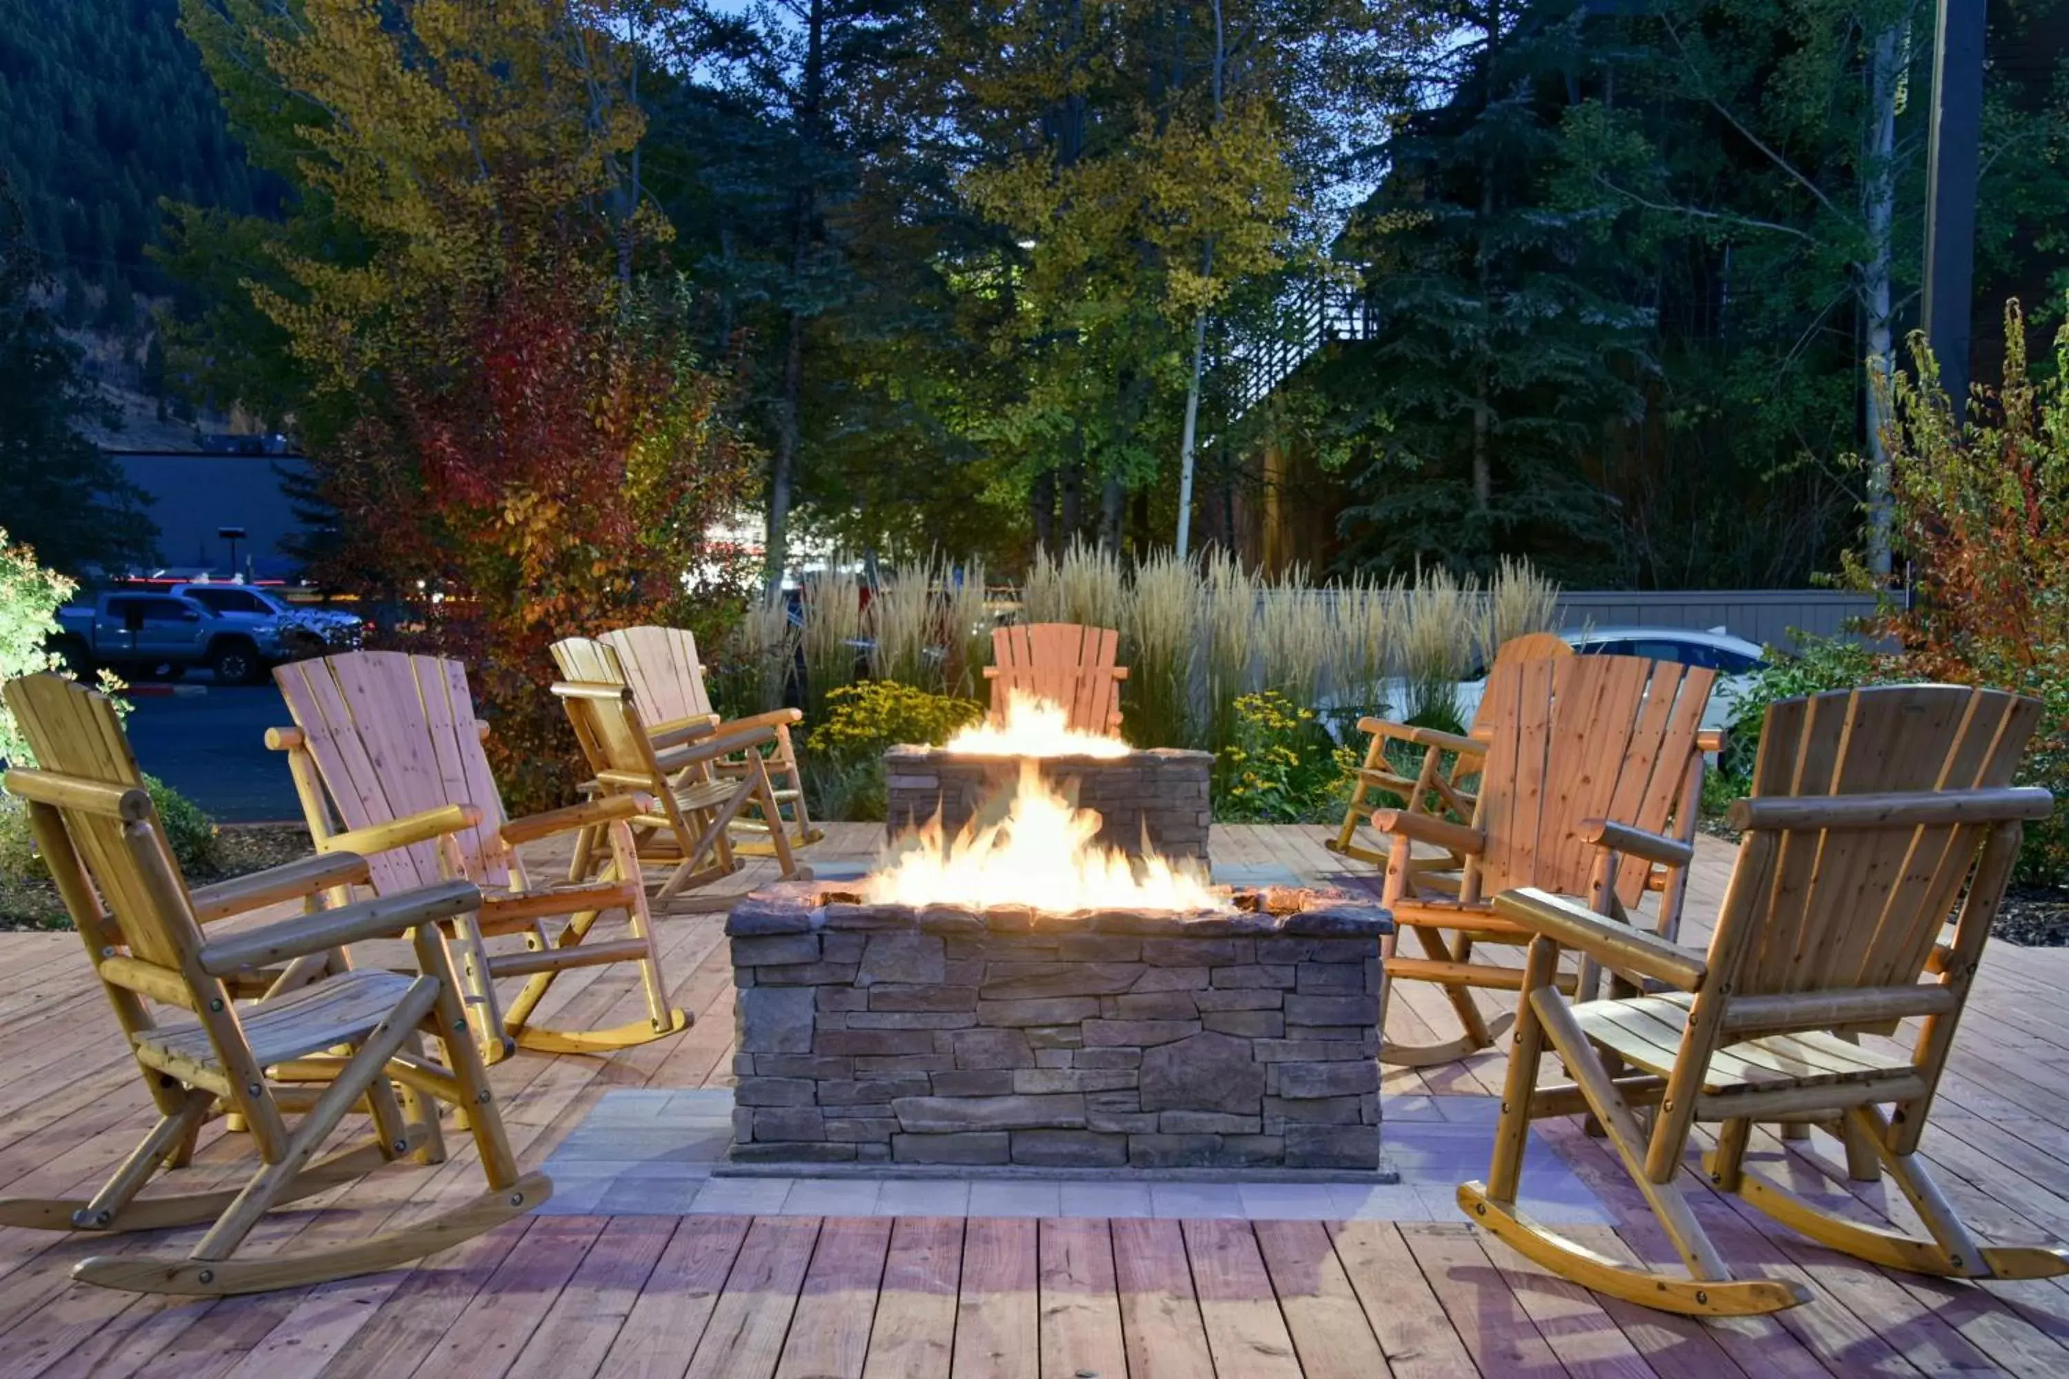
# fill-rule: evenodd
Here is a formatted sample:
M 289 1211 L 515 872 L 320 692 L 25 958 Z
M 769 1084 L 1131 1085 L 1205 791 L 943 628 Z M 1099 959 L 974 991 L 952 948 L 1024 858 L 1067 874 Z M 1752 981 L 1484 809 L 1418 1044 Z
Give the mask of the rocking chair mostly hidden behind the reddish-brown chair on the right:
M 1366 848 L 1357 839 L 1357 825 L 1380 806 L 1376 796 L 1397 796 L 1405 800 L 1409 813 L 1430 813 L 1430 806 L 1436 804 L 1440 815 L 1471 819 L 1475 800 L 1471 784 L 1479 777 L 1479 767 L 1488 757 L 1488 738 L 1494 734 L 1492 707 L 1508 701 L 1498 682 L 1517 674 L 1523 662 L 1546 655 L 1572 655 L 1572 645 L 1558 633 L 1525 633 L 1502 643 L 1500 651 L 1494 653 L 1494 666 L 1488 668 L 1488 682 L 1479 707 L 1473 711 L 1469 738 L 1436 728 L 1395 724 L 1384 717 L 1357 719 L 1357 730 L 1370 736 L 1366 761 L 1351 779 L 1351 802 L 1343 808 L 1343 827 L 1337 829 L 1337 837 L 1322 846 L 1359 862 L 1386 866 L 1384 850 Z M 1423 748 L 1421 769 L 1415 775 L 1403 775 L 1386 759 L 1386 748 L 1392 742 Z M 1444 769 L 1446 755 L 1452 759 L 1450 771 Z M 1465 858 L 1457 854 L 1415 858 L 1419 872 L 1457 872 L 1461 866 L 1465 866 Z

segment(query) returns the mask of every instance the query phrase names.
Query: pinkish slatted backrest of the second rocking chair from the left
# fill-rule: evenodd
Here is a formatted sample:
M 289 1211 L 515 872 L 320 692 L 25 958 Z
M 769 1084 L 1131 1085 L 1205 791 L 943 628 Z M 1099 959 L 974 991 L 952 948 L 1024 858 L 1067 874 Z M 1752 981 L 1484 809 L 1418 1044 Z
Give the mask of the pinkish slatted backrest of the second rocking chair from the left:
M 273 678 L 346 829 L 472 804 L 482 810 L 480 823 L 453 835 L 461 866 L 470 881 L 509 883 L 513 858 L 501 835 L 503 796 L 482 750 L 480 719 L 459 662 L 348 651 L 281 666 Z M 393 848 L 366 864 L 383 895 L 443 877 L 437 841 Z

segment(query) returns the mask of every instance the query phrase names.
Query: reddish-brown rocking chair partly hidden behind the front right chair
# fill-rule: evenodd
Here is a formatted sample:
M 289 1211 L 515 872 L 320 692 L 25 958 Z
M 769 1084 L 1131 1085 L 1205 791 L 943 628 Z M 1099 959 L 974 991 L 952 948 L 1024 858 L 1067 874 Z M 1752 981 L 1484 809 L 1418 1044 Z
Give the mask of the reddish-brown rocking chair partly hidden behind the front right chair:
M 1697 724 L 1715 678 L 1699 666 L 1635 655 L 1539 655 L 1488 680 L 1486 744 L 1450 740 L 1486 753 L 1473 823 L 1407 808 L 1372 815 L 1372 829 L 1390 839 L 1382 903 L 1423 951 L 1399 957 L 1397 939 L 1388 939 L 1382 992 L 1392 982 L 1436 982 L 1465 1030 L 1426 1046 L 1382 1034 L 1380 1061 L 1450 1063 L 1492 1046 L 1515 1019 L 1502 1013 L 1488 1021 L 1473 1003 L 1473 988 L 1517 990 L 1521 980 L 1512 966 L 1473 961 L 1473 947 L 1529 939 L 1486 899 L 1494 891 L 1533 885 L 1622 916 L 1653 889 L 1657 932 L 1674 937 L 1703 794 Z M 1659 841 L 1668 831 L 1672 837 Z M 1457 893 L 1430 879 L 1415 844 L 1463 858 Z M 1579 980 L 1593 984 L 1597 976 L 1589 968 Z M 1382 1013 L 1386 1005 L 1382 994 Z

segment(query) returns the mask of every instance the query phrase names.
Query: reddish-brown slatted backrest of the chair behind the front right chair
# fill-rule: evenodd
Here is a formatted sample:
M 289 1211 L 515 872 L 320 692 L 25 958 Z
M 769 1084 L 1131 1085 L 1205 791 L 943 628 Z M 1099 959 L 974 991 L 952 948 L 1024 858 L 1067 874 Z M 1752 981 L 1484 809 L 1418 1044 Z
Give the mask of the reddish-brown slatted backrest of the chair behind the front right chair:
M 1587 819 L 1651 833 L 1686 833 L 1688 773 L 1701 769 L 1697 730 L 1715 684 L 1699 666 L 1635 655 L 1539 653 L 1490 678 L 1475 825 L 1486 852 L 1467 866 L 1469 899 L 1510 887 L 1585 895 L 1597 850 Z M 1635 906 L 1649 866 L 1624 858 L 1616 893 Z

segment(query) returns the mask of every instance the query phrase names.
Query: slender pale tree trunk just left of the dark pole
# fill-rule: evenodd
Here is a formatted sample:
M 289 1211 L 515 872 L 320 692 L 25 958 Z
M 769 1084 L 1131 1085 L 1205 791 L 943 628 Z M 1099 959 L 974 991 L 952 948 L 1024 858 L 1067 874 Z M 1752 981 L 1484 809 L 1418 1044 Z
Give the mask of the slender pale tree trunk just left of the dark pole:
M 1889 579 L 1891 498 L 1889 447 L 1883 426 L 1889 422 L 1891 370 L 1895 368 L 1895 331 L 1891 308 L 1891 232 L 1897 219 L 1897 83 L 1903 76 L 1903 27 L 1891 25 L 1875 37 L 1868 66 L 1868 141 L 1864 149 L 1866 178 L 1860 184 L 1862 223 L 1868 232 L 1868 256 L 1860 265 L 1860 306 L 1866 320 L 1866 389 L 1868 389 L 1868 573 Z

